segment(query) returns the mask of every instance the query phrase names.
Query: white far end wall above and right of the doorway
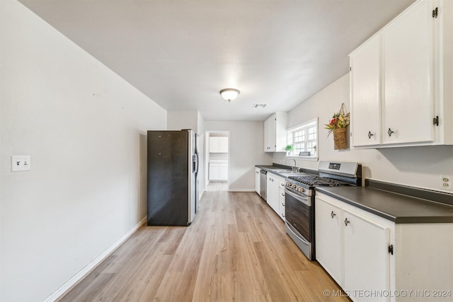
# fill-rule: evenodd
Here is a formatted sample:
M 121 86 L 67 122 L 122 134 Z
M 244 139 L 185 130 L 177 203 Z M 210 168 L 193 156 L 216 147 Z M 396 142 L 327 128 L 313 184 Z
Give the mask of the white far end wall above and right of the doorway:
M 229 131 L 229 190 L 254 191 L 255 165 L 272 164 L 264 152 L 263 122 L 205 122 L 206 131 Z

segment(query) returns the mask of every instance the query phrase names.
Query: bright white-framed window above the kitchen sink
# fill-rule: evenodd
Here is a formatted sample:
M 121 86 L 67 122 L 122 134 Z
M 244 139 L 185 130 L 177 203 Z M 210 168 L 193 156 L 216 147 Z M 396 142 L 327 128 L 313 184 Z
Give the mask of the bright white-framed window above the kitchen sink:
M 318 119 L 288 129 L 288 144 L 292 145 L 289 156 L 318 158 Z

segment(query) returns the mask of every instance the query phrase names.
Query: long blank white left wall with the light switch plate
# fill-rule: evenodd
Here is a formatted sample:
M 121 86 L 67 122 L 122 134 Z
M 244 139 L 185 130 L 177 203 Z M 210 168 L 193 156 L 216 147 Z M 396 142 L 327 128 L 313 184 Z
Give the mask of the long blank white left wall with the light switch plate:
M 147 216 L 166 110 L 15 0 L 1 5 L 1 296 L 43 301 Z M 11 156 L 32 170 L 11 173 Z

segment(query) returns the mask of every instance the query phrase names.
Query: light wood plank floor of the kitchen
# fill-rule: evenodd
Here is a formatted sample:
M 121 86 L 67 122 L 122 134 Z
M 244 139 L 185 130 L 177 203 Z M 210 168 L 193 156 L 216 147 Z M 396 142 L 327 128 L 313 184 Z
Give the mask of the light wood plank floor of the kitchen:
M 208 190 L 191 226 L 140 228 L 60 301 L 348 301 L 338 290 L 258 194 Z

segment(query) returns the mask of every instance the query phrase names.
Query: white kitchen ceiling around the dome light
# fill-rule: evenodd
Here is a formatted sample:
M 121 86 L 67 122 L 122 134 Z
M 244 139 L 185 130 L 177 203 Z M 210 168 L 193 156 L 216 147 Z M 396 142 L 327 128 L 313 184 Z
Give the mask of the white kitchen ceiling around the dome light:
M 348 54 L 414 0 L 20 2 L 166 110 L 264 120 L 347 74 Z M 227 103 L 222 88 L 241 93 Z

